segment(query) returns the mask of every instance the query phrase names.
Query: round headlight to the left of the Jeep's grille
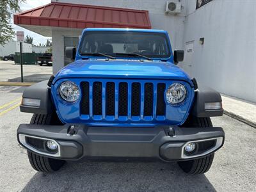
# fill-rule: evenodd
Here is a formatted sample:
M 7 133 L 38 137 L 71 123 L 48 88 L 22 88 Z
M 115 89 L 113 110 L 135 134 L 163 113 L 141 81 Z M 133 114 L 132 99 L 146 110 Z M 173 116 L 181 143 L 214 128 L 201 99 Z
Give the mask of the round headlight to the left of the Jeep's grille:
M 60 96 L 69 102 L 75 102 L 80 97 L 80 91 L 76 83 L 64 81 L 60 85 Z

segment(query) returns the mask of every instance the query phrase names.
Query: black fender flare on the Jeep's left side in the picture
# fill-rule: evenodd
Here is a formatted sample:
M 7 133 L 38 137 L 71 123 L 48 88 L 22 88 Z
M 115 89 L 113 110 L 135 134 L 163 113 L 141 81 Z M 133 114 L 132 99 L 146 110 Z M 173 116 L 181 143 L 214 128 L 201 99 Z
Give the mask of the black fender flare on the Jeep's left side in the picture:
M 23 92 L 22 99 L 40 99 L 40 106 L 25 106 L 20 104 L 20 111 L 25 113 L 49 114 L 52 113 L 54 106 L 51 99 L 51 87 L 47 85 L 48 81 L 33 84 Z

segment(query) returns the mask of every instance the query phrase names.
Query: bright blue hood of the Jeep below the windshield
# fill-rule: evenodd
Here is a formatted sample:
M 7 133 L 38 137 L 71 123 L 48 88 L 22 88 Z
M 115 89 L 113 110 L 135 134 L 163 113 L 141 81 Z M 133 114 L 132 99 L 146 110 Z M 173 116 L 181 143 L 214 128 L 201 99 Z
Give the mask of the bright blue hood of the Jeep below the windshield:
M 173 79 L 192 82 L 181 68 L 169 61 L 147 60 L 77 60 L 62 68 L 52 83 L 63 78 L 133 78 L 133 79 Z

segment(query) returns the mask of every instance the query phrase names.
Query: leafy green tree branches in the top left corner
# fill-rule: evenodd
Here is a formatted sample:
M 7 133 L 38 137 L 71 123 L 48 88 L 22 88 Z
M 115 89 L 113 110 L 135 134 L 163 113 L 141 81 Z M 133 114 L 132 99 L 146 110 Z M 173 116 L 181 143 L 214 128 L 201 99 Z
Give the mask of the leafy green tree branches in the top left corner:
M 0 0 L 0 45 L 13 39 L 12 14 L 20 11 L 19 3 L 26 0 Z

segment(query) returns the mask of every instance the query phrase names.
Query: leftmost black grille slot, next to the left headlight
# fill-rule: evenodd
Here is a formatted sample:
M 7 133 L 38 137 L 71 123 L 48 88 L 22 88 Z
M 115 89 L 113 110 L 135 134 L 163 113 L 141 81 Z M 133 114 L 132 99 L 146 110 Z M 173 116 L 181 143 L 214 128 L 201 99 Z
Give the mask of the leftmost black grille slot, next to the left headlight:
M 89 104 L 89 83 L 82 82 L 81 83 L 81 91 L 82 91 L 82 98 L 81 98 L 81 114 L 89 115 L 90 113 L 90 104 Z

